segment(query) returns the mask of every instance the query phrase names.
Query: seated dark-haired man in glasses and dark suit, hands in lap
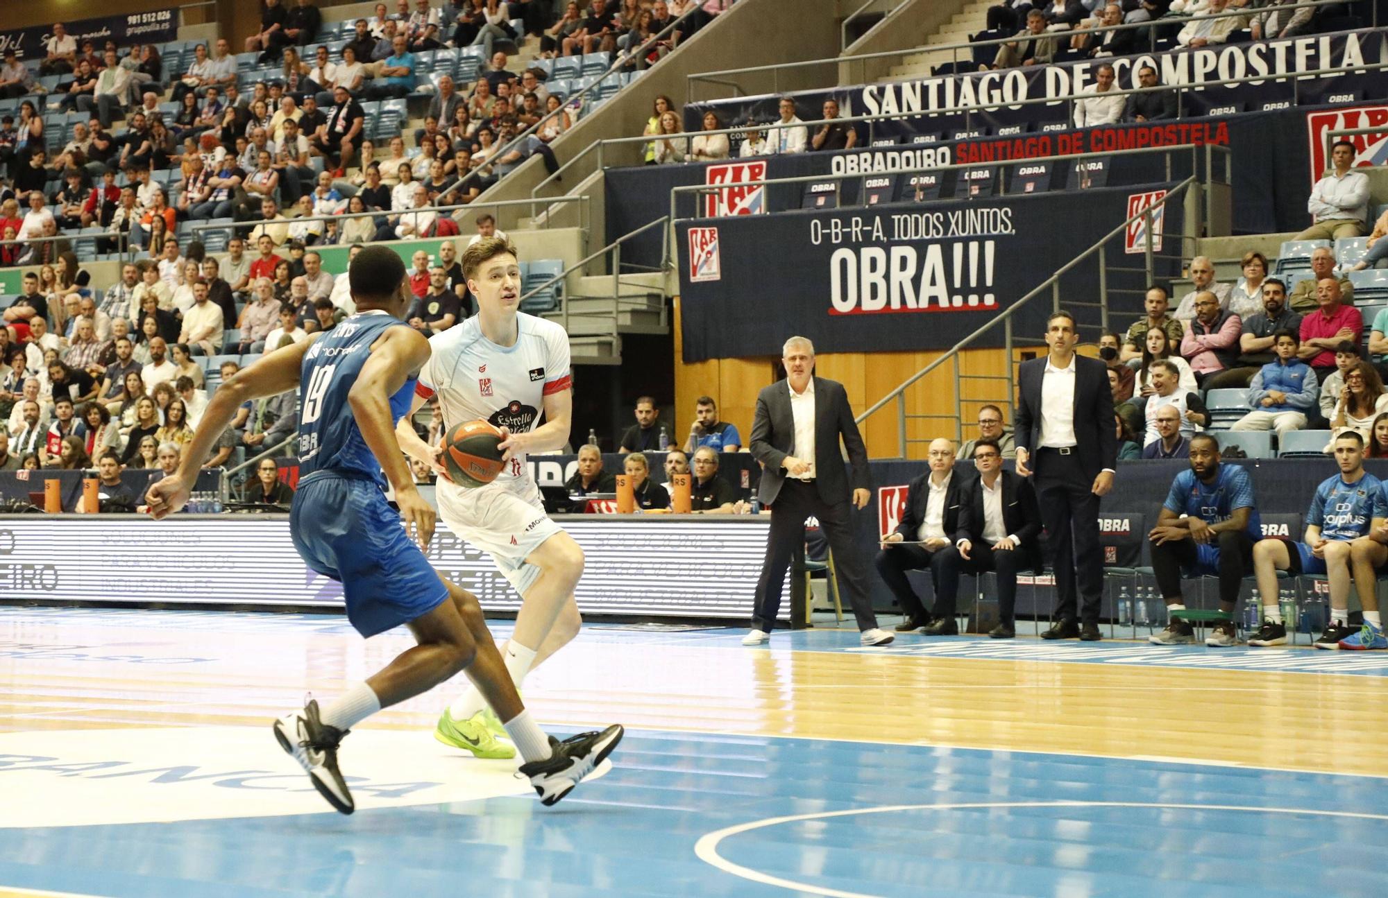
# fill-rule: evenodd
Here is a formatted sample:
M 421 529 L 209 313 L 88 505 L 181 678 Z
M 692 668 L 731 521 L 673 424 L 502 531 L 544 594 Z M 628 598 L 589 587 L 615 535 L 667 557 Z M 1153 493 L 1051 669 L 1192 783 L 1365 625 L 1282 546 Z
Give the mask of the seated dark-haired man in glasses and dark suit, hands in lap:
M 936 564 L 934 622 L 926 636 L 954 636 L 955 596 L 959 574 L 995 571 L 998 574 L 998 625 L 988 636 L 1012 639 L 1013 608 L 1017 604 L 1017 571 L 1041 568 L 1041 507 L 1031 481 L 1002 470 L 1002 449 L 995 439 L 980 439 L 973 446 L 979 478 L 965 484 L 960 496 L 959 529 L 955 545 L 938 553 Z

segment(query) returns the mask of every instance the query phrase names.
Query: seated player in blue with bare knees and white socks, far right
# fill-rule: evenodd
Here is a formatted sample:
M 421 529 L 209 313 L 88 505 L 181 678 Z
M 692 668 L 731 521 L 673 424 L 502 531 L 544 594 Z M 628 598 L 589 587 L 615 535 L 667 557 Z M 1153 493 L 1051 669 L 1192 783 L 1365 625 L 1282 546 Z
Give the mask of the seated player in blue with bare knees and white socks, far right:
M 1249 646 L 1281 646 L 1287 624 L 1277 607 L 1277 571 L 1324 574 L 1330 581 L 1330 621 L 1317 649 L 1338 649 L 1355 635 L 1349 626 L 1351 554 L 1355 540 L 1378 532 L 1388 518 L 1382 482 L 1364 471 L 1364 441 L 1356 431 L 1335 437 L 1332 449 L 1339 474 L 1316 488 L 1306 513 L 1302 542 L 1270 538 L 1253 546 L 1253 574 L 1263 593 L 1263 625 Z

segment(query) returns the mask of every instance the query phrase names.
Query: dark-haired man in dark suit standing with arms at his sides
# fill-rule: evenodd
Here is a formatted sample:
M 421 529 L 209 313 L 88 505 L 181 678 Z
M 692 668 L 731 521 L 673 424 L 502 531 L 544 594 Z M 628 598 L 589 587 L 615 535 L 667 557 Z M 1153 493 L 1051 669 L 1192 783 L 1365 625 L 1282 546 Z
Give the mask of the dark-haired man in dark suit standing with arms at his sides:
M 1103 556 L 1099 496 L 1113 489 L 1117 439 L 1103 362 L 1076 355 L 1074 316 L 1047 319 L 1051 352 L 1017 373 L 1017 474 L 1035 473 L 1037 500 L 1055 570 L 1055 621 L 1042 639 L 1099 639 Z M 1083 610 L 1076 625 L 1078 603 Z

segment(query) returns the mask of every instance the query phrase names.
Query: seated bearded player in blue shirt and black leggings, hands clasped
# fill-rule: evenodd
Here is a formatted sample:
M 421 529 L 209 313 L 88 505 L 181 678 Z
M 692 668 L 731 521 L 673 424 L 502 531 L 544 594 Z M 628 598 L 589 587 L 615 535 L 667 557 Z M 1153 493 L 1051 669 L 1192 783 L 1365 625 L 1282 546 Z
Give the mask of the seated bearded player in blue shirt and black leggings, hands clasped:
M 1233 618 L 1238 593 L 1253 563 L 1253 542 L 1263 535 L 1253 502 L 1253 478 L 1237 464 L 1221 464 L 1219 441 L 1209 434 L 1195 434 L 1190 443 L 1191 467 L 1171 481 L 1156 527 L 1148 534 L 1152 572 L 1171 617 L 1166 629 L 1148 640 L 1158 646 L 1195 642 L 1195 628 L 1181 619 L 1184 571 L 1187 576 L 1219 575 L 1219 608 L 1226 617 L 1214 625 L 1205 644 L 1233 646 L 1238 642 Z

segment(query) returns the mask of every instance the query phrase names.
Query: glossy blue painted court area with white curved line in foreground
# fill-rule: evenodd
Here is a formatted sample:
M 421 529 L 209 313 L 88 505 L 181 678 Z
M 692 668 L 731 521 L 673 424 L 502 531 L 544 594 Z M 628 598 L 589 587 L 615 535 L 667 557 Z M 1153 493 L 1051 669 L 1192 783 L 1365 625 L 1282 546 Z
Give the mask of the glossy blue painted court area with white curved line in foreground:
M 633 732 L 609 775 L 552 811 L 516 795 L 8 829 L 0 883 L 112 898 L 1377 898 L 1385 807 L 1381 779 Z

